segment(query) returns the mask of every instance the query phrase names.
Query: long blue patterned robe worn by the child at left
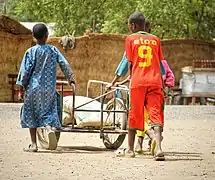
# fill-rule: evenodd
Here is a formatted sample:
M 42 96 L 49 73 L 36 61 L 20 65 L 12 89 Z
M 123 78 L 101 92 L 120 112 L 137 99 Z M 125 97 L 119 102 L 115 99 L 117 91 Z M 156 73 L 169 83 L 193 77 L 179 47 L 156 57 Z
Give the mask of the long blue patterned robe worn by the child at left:
M 59 94 L 56 92 L 57 64 L 69 79 L 72 75 L 70 65 L 56 47 L 36 45 L 26 51 L 16 82 L 25 89 L 21 110 L 23 128 L 61 126 Z

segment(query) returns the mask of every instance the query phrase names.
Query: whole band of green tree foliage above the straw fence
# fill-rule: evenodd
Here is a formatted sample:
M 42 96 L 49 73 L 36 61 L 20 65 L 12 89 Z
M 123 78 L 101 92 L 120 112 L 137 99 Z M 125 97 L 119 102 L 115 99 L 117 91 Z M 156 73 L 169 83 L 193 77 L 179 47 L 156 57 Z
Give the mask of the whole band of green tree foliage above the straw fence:
M 215 0 L 8 0 L 8 13 L 20 21 L 55 22 L 57 35 L 129 33 L 127 19 L 144 12 L 160 38 L 215 37 Z

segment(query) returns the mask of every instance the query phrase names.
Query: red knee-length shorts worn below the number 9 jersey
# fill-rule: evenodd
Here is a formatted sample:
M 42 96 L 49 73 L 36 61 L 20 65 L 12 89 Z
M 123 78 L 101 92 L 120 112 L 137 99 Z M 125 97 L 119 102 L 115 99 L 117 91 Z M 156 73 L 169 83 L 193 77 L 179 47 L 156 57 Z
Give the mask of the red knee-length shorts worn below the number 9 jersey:
M 144 130 L 144 106 L 153 126 L 164 125 L 164 95 L 160 87 L 138 87 L 130 89 L 130 111 L 128 127 Z

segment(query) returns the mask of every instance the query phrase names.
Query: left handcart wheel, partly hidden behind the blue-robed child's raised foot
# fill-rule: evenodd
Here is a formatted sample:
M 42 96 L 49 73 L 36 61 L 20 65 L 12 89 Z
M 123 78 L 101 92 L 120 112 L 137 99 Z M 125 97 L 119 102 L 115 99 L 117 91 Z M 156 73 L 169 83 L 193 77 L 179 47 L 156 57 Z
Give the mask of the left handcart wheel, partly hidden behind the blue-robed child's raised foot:
M 57 142 L 60 139 L 60 132 L 55 132 Z M 49 147 L 49 140 L 48 140 L 48 134 L 45 128 L 39 128 L 37 129 L 37 136 L 40 143 L 40 146 L 42 149 L 48 149 Z

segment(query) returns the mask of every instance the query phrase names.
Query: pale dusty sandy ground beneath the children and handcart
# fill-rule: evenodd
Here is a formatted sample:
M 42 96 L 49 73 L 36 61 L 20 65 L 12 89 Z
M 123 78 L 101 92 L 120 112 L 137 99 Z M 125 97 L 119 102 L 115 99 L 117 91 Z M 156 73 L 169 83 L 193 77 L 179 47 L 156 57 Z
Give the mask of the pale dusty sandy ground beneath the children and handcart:
M 149 155 L 116 158 L 98 134 L 62 134 L 56 151 L 24 153 L 29 143 L 17 104 L 0 104 L 0 180 L 214 180 L 215 108 L 166 108 L 165 162 Z M 126 146 L 126 141 L 123 144 Z

